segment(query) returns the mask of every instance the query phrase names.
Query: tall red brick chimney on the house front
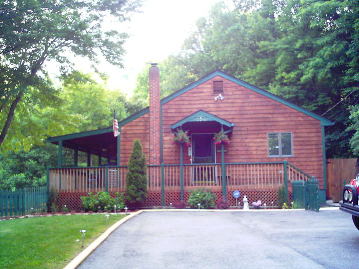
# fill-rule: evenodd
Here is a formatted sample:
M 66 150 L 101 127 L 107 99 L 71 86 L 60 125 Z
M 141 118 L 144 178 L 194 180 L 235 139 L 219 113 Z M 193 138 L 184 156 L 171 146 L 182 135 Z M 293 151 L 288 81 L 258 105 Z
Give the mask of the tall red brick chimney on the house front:
M 161 164 L 160 160 L 160 91 L 159 69 L 157 64 L 151 64 L 150 81 L 150 160 L 149 164 Z

